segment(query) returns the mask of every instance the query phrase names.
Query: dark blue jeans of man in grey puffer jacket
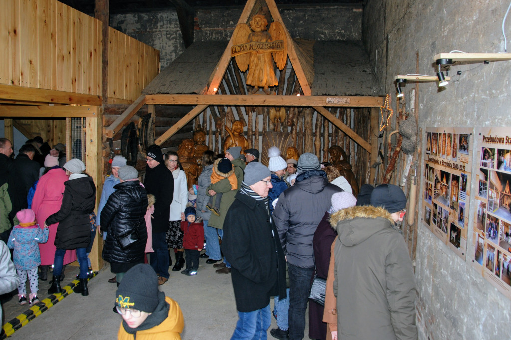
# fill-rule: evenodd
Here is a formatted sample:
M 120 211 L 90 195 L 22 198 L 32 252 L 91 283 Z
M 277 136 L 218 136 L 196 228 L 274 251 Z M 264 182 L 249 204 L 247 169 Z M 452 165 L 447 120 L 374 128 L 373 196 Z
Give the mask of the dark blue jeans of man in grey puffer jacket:
M 289 338 L 303 339 L 305 335 L 305 312 L 309 302 L 313 268 L 301 268 L 288 262 L 289 268 Z

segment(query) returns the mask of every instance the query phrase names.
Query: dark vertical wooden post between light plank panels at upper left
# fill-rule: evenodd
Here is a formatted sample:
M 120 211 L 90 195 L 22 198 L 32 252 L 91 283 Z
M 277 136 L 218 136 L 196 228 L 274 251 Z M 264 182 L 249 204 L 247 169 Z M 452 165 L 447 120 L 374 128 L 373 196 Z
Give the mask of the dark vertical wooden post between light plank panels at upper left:
M 103 43 L 101 51 L 102 70 L 101 70 L 101 95 L 103 102 L 108 102 L 108 48 L 110 47 L 108 38 L 108 27 L 110 25 L 110 0 L 96 0 L 94 16 L 101 21 Z

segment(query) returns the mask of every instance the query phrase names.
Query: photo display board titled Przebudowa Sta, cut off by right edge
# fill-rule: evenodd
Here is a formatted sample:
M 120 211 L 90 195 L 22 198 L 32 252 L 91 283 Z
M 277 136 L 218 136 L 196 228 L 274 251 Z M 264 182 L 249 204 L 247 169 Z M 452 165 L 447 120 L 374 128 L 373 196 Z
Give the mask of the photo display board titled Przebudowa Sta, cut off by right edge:
M 511 129 L 480 128 L 472 263 L 511 299 Z

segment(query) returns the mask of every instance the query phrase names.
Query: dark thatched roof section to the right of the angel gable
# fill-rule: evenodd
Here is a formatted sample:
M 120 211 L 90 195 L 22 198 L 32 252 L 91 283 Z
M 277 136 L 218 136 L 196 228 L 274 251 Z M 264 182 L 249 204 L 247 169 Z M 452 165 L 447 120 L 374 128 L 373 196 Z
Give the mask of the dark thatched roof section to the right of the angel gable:
M 361 42 L 316 41 L 313 95 L 379 95 Z

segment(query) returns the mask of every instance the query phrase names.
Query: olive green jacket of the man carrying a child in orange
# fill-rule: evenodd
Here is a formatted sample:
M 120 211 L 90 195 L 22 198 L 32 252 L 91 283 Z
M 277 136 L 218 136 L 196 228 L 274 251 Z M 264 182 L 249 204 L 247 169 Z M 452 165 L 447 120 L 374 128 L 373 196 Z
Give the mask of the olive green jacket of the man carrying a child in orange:
M 238 192 L 238 189 L 241 186 L 241 182 L 243 181 L 243 171 L 245 169 L 245 162 L 237 158 L 233 160 L 231 163 L 233 163 L 234 174 L 236 176 L 236 180 L 238 181 L 238 188 L 236 190 L 231 190 L 229 180 L 226 178 L 216 182 L 215 184 L 211 184 L 207 188 L 207 190 L 213 190 L 215 192 L 223 193 L 222 201 L 220 201 L 220 216 L 211 214 L 210 220 L 207 221 L 208 227 L 213 227 L 217 229 L 223 228 L 225 213 L 227 212 L 227 209 L 229 209 L 230 205 L 233 204 L 236 192 Z M 210 196 L 207 191 L 206 195 Z

